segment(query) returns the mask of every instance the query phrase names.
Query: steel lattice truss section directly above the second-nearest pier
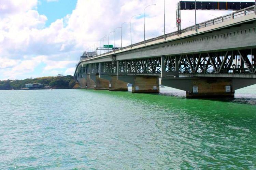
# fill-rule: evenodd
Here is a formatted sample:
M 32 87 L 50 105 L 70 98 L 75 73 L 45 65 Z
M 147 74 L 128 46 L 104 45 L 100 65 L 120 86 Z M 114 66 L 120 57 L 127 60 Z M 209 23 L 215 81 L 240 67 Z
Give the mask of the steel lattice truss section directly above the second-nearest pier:
M 126 71 L 127 68 L 127 71 Z M 140 58 L 119 62 L 119 71 L 122 73 L 161 73 L 161 57 Z

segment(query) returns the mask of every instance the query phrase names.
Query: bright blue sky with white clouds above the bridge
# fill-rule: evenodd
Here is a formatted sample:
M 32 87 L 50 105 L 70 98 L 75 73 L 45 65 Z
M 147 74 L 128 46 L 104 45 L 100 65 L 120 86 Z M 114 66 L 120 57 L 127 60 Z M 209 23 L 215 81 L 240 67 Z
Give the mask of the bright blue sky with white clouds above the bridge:
M 114 40 L 121 47 L 121 25 L 123 47 L 131 40 L 143 41 L 144 10 L 146 39 L 163 35 L 164 7 L 166 33 L 176 31 L 180 0 L 165 0 L 165 6 L 163 1 L 0 0 L 0 80 L 73 75 L 83 51 L 113 45 Z M 197 11 L 197 22 L 228 13 Z M 181 21 L 182 28 L 193 25 L 195 11 L 182 11 Z

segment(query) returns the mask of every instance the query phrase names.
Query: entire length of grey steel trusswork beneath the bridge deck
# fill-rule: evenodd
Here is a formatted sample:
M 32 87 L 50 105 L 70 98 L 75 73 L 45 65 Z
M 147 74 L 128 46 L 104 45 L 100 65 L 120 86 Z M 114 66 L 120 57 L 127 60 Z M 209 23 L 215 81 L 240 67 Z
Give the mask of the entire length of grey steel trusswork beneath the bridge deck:
M 178 63 L 176 63 L 178 62 Z M 176 68 L 179 66 L 179 68 Z M 164 57 L 164 71 L 179 74 L 256 74 L 256 49 L 182 54 Z M 161 74 L 161 57 L 91 63 L 83 73 Z

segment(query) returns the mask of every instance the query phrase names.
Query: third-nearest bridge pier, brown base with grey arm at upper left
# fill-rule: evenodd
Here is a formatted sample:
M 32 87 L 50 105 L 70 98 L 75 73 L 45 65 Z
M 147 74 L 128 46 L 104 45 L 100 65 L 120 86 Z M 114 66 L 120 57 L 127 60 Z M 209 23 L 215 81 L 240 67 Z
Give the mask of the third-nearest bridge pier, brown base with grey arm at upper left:
M 128 91 L 128 84 L 117 80 L 116 75 L 100 75 L 100 78 L 109 81 L 109 91 Z

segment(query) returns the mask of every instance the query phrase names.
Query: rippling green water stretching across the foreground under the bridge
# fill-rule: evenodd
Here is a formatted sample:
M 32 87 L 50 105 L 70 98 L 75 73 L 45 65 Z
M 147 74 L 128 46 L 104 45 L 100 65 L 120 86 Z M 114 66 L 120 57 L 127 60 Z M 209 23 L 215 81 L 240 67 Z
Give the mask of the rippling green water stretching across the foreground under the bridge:
M 256 85 L 160 91 L 0 91 L 0 169 L 256 169 Z

